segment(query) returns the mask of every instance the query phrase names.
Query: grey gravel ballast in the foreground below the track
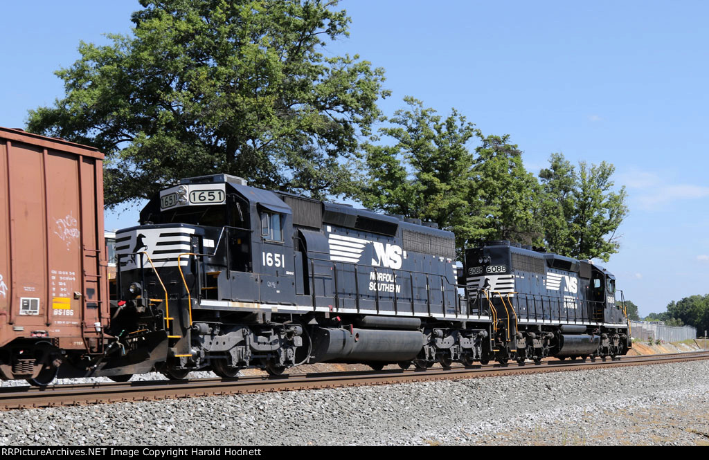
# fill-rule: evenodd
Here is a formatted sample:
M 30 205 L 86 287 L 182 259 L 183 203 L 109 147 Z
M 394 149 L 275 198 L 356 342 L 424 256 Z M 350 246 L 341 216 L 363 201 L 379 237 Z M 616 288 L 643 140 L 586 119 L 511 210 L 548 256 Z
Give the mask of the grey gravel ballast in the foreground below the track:
M 9 411 L 0 444 L 707 444 L 709 361 Z

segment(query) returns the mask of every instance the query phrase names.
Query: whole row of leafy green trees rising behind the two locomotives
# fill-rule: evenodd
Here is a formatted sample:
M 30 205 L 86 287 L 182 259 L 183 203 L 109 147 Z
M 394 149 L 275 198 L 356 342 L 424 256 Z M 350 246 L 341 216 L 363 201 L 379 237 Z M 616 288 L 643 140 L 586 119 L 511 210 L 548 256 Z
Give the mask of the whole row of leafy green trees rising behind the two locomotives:
M 107 206 L 225 173 L 431 220 L 459 249 L 511 240 L 577 258 L 618 252 L 627 207 L 613 165 L 576 169 L 554 154 L 540 184 L 509 135 L 484 135 L 455 109 L 443 117 L 413 97 L 380 142 L 384 70 L 323 52 L 348 34 L 337 0 L 140 4 L 132 33 L 79 45 L 79 60 L 55 72 L 65 96 L 30 111 L 27 125 L 106 153 Z

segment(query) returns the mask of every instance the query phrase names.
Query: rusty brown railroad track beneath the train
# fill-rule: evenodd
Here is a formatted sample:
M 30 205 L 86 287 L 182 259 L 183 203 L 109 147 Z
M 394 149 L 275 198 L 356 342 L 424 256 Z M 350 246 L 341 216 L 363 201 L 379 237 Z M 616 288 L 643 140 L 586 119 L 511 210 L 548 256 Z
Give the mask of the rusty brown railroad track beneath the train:
M 197 378 L 184 381 L 138 381 L 127 383 L 81 383 L 52 385 L 46 388 L 15 386 L 0 388 L 0 410 L 48 408 L 64 405 L 116 403 L 223 396 L 267 391 L 293 391 L 345 386 L 386 385 L 416 381 L 440 381 L 540 372 L 600 369 L 618 366 L 642 366 L 669 362 L 709 359 L 709 352 L 656 354 L 621 357 L 617 361 L 542 361 L 527 363 L 489 364 L 487 366 L 453 366 L 451 368 L 401 369 L 384 371 L 332 372 L 318 374 L 284 374 L 281 376 L 244 376 L 239 378 Z

